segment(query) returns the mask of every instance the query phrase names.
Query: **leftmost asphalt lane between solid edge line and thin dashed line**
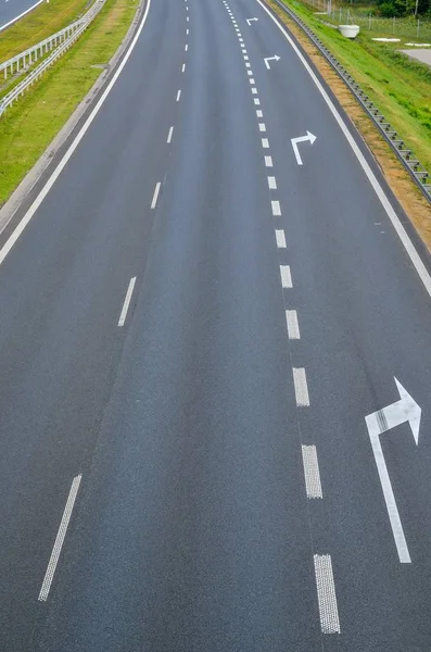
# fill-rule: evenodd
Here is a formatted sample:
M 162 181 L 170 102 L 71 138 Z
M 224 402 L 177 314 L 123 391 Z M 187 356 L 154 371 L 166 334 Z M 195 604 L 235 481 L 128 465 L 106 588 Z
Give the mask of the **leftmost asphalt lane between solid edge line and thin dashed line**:
M 166 7 L 151 12 L 129 75 L 1 266 L 1 650 L 27 650 L 43 613 L 61 514 L 91 459 L 128 328 L 117 326 L 125 293 L 145 268 L 145 209 L 166 170 L 181 79 L 182 13 Z

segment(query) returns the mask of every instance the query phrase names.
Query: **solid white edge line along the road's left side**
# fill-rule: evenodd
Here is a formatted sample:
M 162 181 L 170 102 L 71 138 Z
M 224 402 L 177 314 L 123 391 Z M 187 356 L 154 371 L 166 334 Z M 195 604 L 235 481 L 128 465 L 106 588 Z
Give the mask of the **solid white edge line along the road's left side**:
M 87 133 L 89 126 L 91 125 L 92 121 L 94 120 L 94 117 L 99 113 L 99 111 L 100 111 L 103 102 L 105 101 L 105 99 L 107 98 L 109 93 L 111 92 L 111 90 L 112 90 L 115 82 L 118 79 L 119 75 L 122 74 L 124 66 L 126 65 L 128 59 L 130 58 L 130 54 L 131 54 L 131 52 L 132 52 L 136 43 L 138 42 L 138 38 L 139 38 L 139 36 L 140 36 L 140 34 L 141 34 L 141 32 L 143 29 L 143 26 L 145 24 L 147 16 L 148 16 L 148 13 L 150 11 L 150 7 L 151 7 L 151 0 L 147 0 L 147 8 L 145 8 L 144 14 L 142 16 L 141 24 L 138 27 L 138 32 L 136 33 L 136 35 L 134 37 L 134 40 L 131 41 L 131 43 L 129 46 L 129 49 L 127 50 L 127 52 L 126 52 L 126 54 L 125 54 L 122 63 L 119 64 L 116 73 L 114 74 L 113 78 L 111 79 L 111 82 L 109 83 L 107 87 L 103 91 L 102 97 L 100 98 L 100 100 L 96 104 L 94 109 L 91 111 L 90 115 L 87 117 L 86 122 L 84 123 L 84 125 L 79 129 L 78 134 L 75 136 L 72 145 L 68 147 L 67 151 L 65 152 L 64 156 L 62 158 L 62 160 L 60 161 L 60 163 L 55 167 L 54 172 L 51 174 L 51 176 L 49 177 L 48 181 L 46 183 L 46 185 L 43 186 L 43 188 L 40 190 L 39 195 L 37 196 L 37 198 L 35 199 L 35 201 L 33 202 L 33 204 L 30 205 L 30 208 L 28 209 L 28 211 L 25 213 L 25 215 L 23 216 L 23 218 L 21 220 L 21 222 L 16 225 L 15 229 L 12 231 L 12 234 L 9 236 L 8 240 L 4 242 L 3 247 L 0 249 L 0 265 L 3 263 L 3 261 L 7 258 L 8 253 L 11 251 L 12 247 L 15 244 L 16 240 L 20 238 L 21 234 L 23 233 L 23 230 L 25 229 L 25 227 L 27 226 L 27 224 L 30 222 L 31 217 L 34 216 L 34 214 L 36 213 L 36 211 L 38 210 L 38 208 L 42 203 L 43 199 L 47 197 L 48 192 L 51 190 L 52 186 L 54 185 L 54 183 L 56 181 L 56 179 L 59 178 L 59 176 L 63 172 L 63 170 L 66 166 L 68 160 L 72 156 L 72 154 L 74 153 L 74 151 L 78 147 L 79 142 L 83 140 L 83 138 L 84 138 L 85 134 Z

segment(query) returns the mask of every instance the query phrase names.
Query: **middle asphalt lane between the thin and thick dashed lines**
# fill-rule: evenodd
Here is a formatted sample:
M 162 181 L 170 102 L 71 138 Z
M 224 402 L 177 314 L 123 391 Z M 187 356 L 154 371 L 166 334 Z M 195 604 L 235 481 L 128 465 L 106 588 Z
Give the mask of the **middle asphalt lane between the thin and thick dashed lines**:
M 320 649 L 255 104 L 224 7 L 188 5 L 153 246 L 36 650 Z

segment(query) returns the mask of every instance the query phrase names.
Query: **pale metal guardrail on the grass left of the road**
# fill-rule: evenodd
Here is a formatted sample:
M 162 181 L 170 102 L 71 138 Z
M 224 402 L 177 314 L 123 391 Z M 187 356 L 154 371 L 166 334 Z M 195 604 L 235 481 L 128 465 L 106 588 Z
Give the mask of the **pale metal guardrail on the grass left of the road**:
M 30 67 L 37 59 L 46 55 L 50 50 L 51 54 L 43 59 L 43 61 L 26 75 L 26 77 L 17 84 L 9 93 L 7 93 L 0 100 L 0 116 L 4 113 L 8 106 L 20 98 L 24 91 L 31 86 L 39 77 L 62 55 L 68 48 L 79 38 L 79 36 L 87 29 L 89 24 L 93 21 L 97 14 L 102 9 L 106 0 L 97 0 L 91 9 L 78 21 L 67 25 L 56 34 L 49 36 L 45 40 L 36 43 L 28 50 L 16 54 L 12 59 L 9 59 L 4 63 L 0 64 L 0 73 L 4 71 L 4 77 L 8 77 L 8 70 L 10 74 L 20 72 Z M 45 49 L 45 52 L 43 52 Z

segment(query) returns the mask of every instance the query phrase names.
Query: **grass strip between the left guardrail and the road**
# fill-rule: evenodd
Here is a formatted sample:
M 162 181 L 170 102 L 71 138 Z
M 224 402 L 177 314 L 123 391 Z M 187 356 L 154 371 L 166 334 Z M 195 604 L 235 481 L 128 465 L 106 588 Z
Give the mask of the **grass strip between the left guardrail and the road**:
M 132 0 L 107 0 L 71 50 L 0 118 L 0 206 L 90 90 L 137 7 Z

